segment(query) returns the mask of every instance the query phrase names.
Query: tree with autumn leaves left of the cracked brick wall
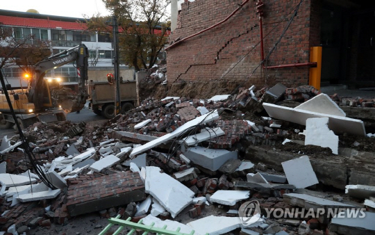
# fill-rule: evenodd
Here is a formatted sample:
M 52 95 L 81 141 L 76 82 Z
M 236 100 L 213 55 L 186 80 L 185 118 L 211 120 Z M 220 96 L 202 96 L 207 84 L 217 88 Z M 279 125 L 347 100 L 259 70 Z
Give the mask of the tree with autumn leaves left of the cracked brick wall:
M 120 60 L 135 70 L 149 69 L 159 52 L 167 44 L 167 31 L 170 26 L 167 6 L 170 0 L 103 0 L 119 23 Z M 112 35 L 112 17 L 100 14 L 88 19 L 90 31 Z

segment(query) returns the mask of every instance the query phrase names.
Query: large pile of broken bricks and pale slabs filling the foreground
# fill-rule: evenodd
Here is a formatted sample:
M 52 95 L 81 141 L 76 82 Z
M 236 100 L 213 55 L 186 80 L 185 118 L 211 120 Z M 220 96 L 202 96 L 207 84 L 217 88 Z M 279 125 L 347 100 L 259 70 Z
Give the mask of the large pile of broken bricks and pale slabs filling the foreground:
M 55 189 L 35 174 L 17 135 L 3 138 L 1 231 L 97 211 L 186 234 L 374 234 L 375 154 L 363 151 L 373 141 L 365 124 L 312 87 L 255 89 L 149 98 L 104 124 L 35 123 L 25 135 Z M 290 108 L 288 97 L 306 102 Z M 326 213 L 337 208 L 365 209 L 365 218 Z M 325 211 L 275 212 L 302 209 Z

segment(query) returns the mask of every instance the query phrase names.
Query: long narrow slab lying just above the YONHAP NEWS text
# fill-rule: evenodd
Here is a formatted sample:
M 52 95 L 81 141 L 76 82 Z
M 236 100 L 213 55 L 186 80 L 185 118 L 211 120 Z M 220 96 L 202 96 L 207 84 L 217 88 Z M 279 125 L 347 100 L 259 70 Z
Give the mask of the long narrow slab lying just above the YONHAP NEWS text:
M 284 202 L 292 204 L 293 206 L 301 206 L 301 207 L 304 207 L 305 209 L 312 208 L 313 206 L 324 206 L 324 208 L 355 207 L 350 204 L 326 200 L 324 198 L 315 197 L 315 196 L 307 195 L 307 194 L 285 193 L 283 195 L 283 198 L 284 198 Z

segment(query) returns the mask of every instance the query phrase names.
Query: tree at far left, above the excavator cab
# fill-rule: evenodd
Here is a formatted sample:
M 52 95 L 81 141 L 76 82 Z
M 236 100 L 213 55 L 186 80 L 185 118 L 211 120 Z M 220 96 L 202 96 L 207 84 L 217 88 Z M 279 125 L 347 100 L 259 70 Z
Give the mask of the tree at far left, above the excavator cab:
M 0 29 L 0 58 L 2 58 L 0 68 L 5 65 L 18 65 L 24 72 L 32 74 L 34 65 L 50 55 L 48 40 L 35 39 L 32 34 L 16 39 L 12 28 Z

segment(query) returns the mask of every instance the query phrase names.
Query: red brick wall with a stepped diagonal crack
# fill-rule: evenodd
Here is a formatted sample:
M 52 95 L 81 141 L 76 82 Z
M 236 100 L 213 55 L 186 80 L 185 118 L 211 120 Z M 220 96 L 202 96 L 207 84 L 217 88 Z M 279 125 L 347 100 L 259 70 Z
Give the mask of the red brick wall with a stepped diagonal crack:
M 297 17 L 294 18 L 281 43 L 271 55 L 268 65 L 308 62 L 310 47 L 319 44 L 318 15 L 312 9 L 311 1 L 303 1 Z M 287 20 L 299 0 L 263 0 L 263 35 L 265 55 L 281 35 Z M 169 36 L 169 41 L 206 29 L 233 12 L 242 0 L 196 0 L 182 4 L 178 15 L 177 29 Z M 290 13 L 290 14 L 288 14 Z M 314 13 L 311 15 L 311 13 Z M 281 20 L 288 15 L 283 22 Z M 313 16 L 315 24 L 310 23 Z M 278 24 L 281 22 L 281 24 Z M 310 28 L 310 26 L 313 26 Z M 176 81 L 214 81 L 227 79 L 244 80 L 260 63 L 259 21 L 256 1 L 250 0 L 231 19 L 201 35 L 178 44 L 167 51 L 167 77 L 169 83 Z M 238 61 L 247 54 L 240 63 Z M 235 63 L 238 63 L 231 69 Z M 278 70 L 258 68 L 250 81 L 258 88 L 282 82 L 285 86 L 308 84 L 308 67 L 292 67 Z

